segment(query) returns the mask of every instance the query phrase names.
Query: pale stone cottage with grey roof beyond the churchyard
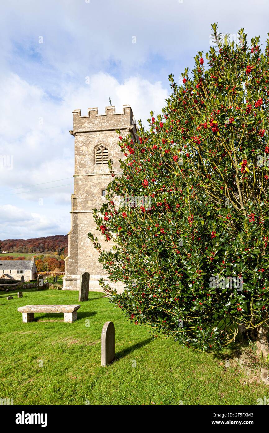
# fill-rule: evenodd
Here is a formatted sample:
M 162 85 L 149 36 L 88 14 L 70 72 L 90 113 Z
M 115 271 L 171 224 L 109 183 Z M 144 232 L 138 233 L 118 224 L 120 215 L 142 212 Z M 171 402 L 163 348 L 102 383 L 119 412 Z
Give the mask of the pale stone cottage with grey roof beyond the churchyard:
M 37 268 L 34 256 L 32 260 L 0 260 L 0 277 L 20 280 L 22 275 L 25 281 L 36 278 Z

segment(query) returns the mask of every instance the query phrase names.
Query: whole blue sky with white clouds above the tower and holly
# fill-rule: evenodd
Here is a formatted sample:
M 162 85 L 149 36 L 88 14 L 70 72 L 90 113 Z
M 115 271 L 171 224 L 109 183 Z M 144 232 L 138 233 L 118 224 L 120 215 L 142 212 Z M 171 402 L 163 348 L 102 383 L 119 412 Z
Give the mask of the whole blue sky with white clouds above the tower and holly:
M 161 113 L 211 23 L 269 32 L 268 0 L 9 0 L 0 14 L 0 239 L 70 230 L 74 109 Z

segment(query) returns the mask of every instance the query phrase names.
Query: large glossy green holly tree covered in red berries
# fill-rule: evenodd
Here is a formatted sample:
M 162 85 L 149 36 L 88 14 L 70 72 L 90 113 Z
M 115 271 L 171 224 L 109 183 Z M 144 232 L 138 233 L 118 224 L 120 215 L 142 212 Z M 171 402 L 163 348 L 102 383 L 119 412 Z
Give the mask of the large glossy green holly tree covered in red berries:
M 137 143 L 119 137 L 123 175 L 109 162 L 108 201 L 94 211 L 114 248 L 89 237 L 126 290 L 101 284 L 134 323 L 201 349 L 241 329 L 266 355 L 269 45 L 248 46 L 244 29 L 237 44 L 220 42 L 212 30 L 215 47 L 198 52 L 182 85 L 169 76 L 162 115 L 148 130 L 139 123 Z

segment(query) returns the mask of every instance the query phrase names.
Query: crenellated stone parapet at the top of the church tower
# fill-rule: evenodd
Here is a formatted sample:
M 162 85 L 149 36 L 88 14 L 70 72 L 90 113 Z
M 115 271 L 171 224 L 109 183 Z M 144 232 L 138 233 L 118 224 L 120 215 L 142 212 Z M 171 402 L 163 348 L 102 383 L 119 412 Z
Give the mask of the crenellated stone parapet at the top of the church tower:
M 88 116 L 81 116 L 81 110 L 73 111 L 73 134 L 112 129 L 127 129 L 133 124 L 133 110 L 123 105 L 122 113 L 115 113 L 115 106 L 105 107 L 104 114 L 98 108 L 89 108 Z

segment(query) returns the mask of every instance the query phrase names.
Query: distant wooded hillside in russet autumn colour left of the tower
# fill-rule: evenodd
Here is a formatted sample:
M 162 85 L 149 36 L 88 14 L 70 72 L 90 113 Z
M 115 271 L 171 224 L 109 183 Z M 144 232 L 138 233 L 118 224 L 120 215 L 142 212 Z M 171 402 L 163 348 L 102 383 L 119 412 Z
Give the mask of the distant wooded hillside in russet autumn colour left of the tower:
M 5 252 L 28 252 L 28 253 L 49 253 L 67 255 L 67 235 L 46 236 L 33 239 L 5 239 L 0 241 L 0 253 Z M 66 251 L 65 251 L 66 250 Z

